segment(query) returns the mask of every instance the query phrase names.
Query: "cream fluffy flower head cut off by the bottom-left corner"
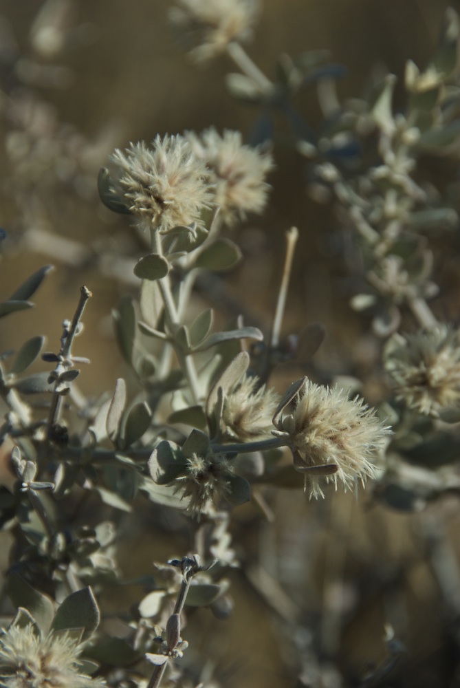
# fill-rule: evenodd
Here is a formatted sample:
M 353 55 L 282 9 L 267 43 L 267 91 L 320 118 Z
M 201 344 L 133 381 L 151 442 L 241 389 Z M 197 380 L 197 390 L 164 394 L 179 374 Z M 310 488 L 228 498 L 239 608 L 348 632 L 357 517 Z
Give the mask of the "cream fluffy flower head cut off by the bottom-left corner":
M 82 674 L 78 644 L 67 634 L 41 637 L 32 624 L 12 625 L 0 635 L 0 684 L 7 688 L 104 688 Z

